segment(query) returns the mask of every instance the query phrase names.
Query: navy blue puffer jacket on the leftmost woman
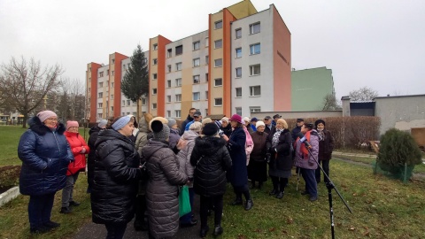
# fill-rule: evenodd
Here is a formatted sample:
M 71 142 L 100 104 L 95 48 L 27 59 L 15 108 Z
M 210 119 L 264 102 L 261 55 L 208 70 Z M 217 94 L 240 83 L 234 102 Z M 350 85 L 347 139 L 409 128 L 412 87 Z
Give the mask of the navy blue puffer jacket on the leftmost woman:
M 65 187 L 66 168 L 73 161 L 65 127 L 59 123 L 56 130 L 51 130 L 36 116 L 28 125 L 18 145 L 18 157 L 22 160 L 19 191 L 33 196 L 55 193 Z

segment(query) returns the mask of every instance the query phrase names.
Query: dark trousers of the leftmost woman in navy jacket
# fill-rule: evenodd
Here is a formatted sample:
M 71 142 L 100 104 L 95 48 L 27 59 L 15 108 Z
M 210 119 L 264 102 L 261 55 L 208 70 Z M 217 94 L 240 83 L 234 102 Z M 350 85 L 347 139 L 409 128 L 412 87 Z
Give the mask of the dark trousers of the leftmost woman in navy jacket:
M 51 209 L 53 208 L 54 200 L 55 193 L 29 197 L 29 227 L 39 228 L 42 227 L 42 224 L 50 221 Z

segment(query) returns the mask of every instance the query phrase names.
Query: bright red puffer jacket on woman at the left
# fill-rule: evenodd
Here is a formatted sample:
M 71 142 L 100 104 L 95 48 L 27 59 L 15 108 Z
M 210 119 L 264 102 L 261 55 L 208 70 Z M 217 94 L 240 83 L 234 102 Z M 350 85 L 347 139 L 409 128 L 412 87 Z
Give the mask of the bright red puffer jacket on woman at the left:
M 84 172 L 86 169 L 86 154 L 90 151 L 89 146 L 78 133 L 66 131 L 64 135 L 69 143 L 69 147 L 71 147 L 74 158 L 73 162 L 68 165 L 66 176 L 73 175 L 78 172 Z M 86 149 L 84 153 L 81 153 L 82 148 Z

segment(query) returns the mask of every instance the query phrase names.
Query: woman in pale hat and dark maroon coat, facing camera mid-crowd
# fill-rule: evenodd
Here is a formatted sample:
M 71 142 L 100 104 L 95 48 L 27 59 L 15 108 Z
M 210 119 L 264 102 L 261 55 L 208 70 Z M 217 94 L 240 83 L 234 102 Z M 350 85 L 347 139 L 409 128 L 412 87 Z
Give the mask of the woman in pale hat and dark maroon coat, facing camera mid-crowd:
M 259 182 L 259 189 L 263 187 L 263 183 L 267 181 L 267 133 L 264 132 L 265 124 L 263 121 L 257 121 L 257 131 L 251 133 L 254 148 L 251 151 L 251 160 L 248 165 L 248 178 L 251 179 L 251 189 L 255 188 L 255 182 Z

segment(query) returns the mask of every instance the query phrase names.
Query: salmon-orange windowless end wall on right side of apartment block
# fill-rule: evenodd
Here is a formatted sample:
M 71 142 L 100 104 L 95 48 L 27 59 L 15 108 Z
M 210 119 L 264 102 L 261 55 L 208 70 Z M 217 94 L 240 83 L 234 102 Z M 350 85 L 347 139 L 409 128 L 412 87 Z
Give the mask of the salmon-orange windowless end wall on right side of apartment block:
M 273 69 L 274 69 L 274 112 L 291 110 L 290 86 L 290 30 L 281 15 L 273 8 Z

